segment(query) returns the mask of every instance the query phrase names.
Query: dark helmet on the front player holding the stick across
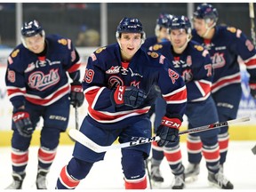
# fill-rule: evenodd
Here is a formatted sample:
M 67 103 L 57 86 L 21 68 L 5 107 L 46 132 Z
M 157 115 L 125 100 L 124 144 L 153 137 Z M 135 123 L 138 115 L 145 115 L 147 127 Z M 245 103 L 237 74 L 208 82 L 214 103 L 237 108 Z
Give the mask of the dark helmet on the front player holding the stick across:
M 146 34 L 143 31 L 142 24 L 137 18 L 126 18 L 124 17 L 116 29 L 116 38 L 120 38 L 122 33 L 140 33 L 141 39 L 146 39 Z

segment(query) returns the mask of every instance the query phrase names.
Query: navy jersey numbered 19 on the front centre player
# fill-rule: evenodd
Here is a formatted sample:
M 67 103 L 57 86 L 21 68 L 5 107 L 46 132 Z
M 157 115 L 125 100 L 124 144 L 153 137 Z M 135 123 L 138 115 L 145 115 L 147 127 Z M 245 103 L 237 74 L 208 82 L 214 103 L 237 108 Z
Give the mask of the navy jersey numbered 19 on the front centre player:
M 146 115 L 156 100 L 156 96 L 152 98 L 151 95 L 154 84 L 159 86 L 167 102 L 167 113 L 182 118 L 187 104 L 187 89 L 164 55 L 139 49 L 130 63 L 124 65 L 119 44 L 99 48 L 88 59 L 83 81 L 92 124 L 105 124 L 104 127 L 111 124 L 111 127 L 116 127 L 130 124 L 141 118 L 141 115 Z M 110 96 L 117 85 L 136 86 L 146 92 L 148 97 L 139 108 L 116 108 Z

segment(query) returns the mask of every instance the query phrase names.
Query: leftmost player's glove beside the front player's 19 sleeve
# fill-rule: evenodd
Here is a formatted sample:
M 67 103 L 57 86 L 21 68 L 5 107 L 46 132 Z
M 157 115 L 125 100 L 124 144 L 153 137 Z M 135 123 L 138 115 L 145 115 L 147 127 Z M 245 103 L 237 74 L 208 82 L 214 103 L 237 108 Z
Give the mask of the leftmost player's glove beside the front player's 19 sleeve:
M 84 92 L 83 87 L 80 82 L 73 82 L 71 84 L 71 92 L 70 92 L 70 104 L 73 105 L 74 108 L 81 107 L 84 103 Z

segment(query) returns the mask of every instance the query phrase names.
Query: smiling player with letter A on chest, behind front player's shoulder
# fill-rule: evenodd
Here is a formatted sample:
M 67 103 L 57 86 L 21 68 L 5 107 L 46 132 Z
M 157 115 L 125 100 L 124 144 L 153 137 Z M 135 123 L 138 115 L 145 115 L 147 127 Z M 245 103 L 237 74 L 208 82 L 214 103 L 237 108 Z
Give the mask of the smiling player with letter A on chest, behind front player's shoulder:
M 205 124 L 217 123 L 217 109 L 211 96 L 213 74 L 212 60 L 209 52 L 200 44 L 190 41 L 191 24 L 188 17 L 174 16 L 169 29 L 171 42 L 156 44 L 152 50 L 160 52 L 168 60 L 171 60 L 173 67 L 183 77 L 186 83 L 188 105 L 185 115 L 188 116 L 188 129 Z M 198 132 L 191 135 L 202 140 L 203 155 L 209 172 L 208 180 L 220 185 L 220 188 L 233 188 L 229 181 L 225 183 L 224 180 L 227 179 L 220 172 L 219 131 L 220 129 L 215 129 L 209 132 Z M 156 142 L 153 143 L 152 148 L 155 148 L 156 151 L 162 150 L 162 148 L 156 145 Z M 185 174 L 179 141 L 166 145 L 164 147 L 164 156 L 175 176 L 172 188 L 184 188 Z M 155 158 L 159 164 L 162 160 L 161 157 L 162 155 L 160 154 L 159 157 L 156 152 Z

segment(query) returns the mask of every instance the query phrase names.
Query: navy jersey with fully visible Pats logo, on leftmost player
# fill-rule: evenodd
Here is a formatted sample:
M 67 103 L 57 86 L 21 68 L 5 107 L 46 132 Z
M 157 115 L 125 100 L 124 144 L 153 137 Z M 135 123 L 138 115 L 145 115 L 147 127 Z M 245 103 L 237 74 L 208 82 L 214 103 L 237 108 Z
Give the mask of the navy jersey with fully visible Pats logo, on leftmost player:
M 44 57 L 30 52 L 23 44 L 8 57 L 5 83 L 15 108 L 24 105 L 25 100 L 48 106 L 70 92 L 67 72 L 79 72 L 80 57 L 70 39 L 51 35 L 45 37 L 45 42 Z

